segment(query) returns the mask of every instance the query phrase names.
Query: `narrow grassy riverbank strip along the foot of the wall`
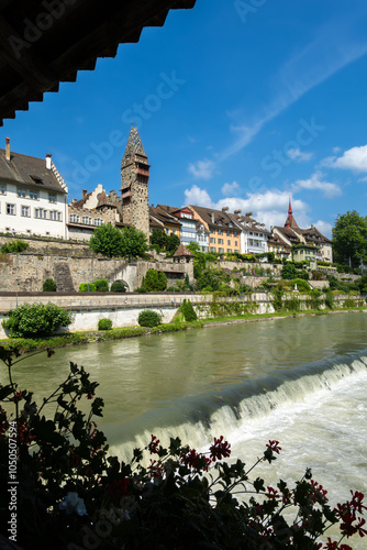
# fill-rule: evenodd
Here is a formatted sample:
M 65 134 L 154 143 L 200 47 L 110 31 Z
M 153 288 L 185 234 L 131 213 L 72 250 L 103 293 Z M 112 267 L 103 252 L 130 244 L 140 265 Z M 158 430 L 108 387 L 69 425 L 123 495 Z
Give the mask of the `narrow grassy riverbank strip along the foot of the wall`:
M 103 342 L 108 340 L 122 340 L 124 338 L 136 338 L 151 334 L 162 334 L 165 332 L 179 332 L 184 330 L 211 327 L 218 323 L 238 323 L 238 322 L 254 322 L 259 320 L 282 319 L 289 317 L 305 317 L 305 316 L 320 316 L 331 314 L 346 314 L 346 312 L 363 312 L 367 311 L 367 307 L 363 308 L 344 308 L 344 309 L 310 309 L 307 311 L 279 311 L 275 314 L 253 315 L 245 314 L 243 316 L 227 316 L 215 317 L 210 319 L 202 319 L 196 322 L 171 322 L 159 324 L 154 328 L 145 327 L 125 327 L 116 328 L 107 331 L 82 331 L 57 334 L 43 339 L 29 339 L 16 338 L 0 340 L 0 344 L 5 349 L 19 349 L 21 352 L 45 350 L 47 348 L 64 348 L 67 345 L 80 345 L 93 342 Z

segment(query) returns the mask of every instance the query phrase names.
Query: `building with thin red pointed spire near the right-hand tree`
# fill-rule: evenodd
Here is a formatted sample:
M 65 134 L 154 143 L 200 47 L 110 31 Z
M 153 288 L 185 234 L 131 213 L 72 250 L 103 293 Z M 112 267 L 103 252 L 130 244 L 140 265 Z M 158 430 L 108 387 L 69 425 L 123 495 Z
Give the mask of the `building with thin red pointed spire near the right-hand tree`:
M 288 216 L 285 227 L 275 227 L 273 237 L 278 235 L 292 249 L 292 258 L 296 262 L 307 260 L 311 268 L 316 267 L 318 261 L 333 262 L 333 249 L 330 239 L 324 237 L 314 226 L 309 229 L 299 228 L 293 218 L 289 199 Z

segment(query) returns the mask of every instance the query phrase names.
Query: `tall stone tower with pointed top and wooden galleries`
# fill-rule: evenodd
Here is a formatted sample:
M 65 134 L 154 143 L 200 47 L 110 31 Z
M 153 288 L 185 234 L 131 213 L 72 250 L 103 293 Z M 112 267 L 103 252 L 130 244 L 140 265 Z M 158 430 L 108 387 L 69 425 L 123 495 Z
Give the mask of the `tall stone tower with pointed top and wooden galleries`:
M 149 239 L 149 165 L 137 129 L 130 131 L 121 163 L 122 221 L 143 231 Z

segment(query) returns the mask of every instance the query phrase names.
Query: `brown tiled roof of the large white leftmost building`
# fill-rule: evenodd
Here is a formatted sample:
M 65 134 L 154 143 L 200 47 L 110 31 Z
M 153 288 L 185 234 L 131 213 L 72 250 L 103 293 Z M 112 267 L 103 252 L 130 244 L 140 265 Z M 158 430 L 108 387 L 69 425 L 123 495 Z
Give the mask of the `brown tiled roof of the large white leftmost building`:
M 66 184 L 64 183 L 63 187 L 59 180 L 64 180 L 59 175 L 58 178 L 57 174 L 54 164 L 52 164 L 51 169 L 46 168 L 45 158 L 11 152 L 10 161 L 7 161 L 5 151 L 0 148 L 0 180 L 66 194 Z

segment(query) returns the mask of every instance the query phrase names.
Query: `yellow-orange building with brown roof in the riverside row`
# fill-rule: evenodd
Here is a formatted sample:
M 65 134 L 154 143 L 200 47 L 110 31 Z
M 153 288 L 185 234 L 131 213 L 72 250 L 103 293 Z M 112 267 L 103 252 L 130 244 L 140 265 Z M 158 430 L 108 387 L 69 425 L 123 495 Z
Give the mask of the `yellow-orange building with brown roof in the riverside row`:
M 189 209 L 209 233 L 209 252 L 224 254 L 241 251 L 241 228 L 227 213 L 227 207 L 213 210 L 190 205 Z

